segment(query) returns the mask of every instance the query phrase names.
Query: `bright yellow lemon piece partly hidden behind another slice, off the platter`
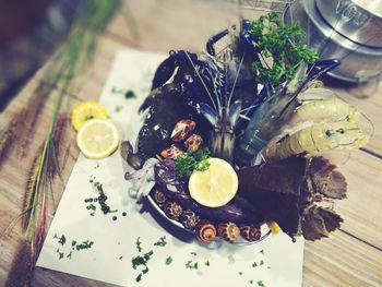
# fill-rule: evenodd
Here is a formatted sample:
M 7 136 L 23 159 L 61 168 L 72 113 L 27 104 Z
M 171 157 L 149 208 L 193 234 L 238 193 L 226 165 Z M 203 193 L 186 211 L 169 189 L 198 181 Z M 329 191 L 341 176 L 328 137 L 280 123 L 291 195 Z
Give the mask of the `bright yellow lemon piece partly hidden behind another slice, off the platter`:
M 107 119 L 108 113 L 103 105 L 88 100 L 77 105 L 72 112 L 72 124 L 76 131 L 88 120 Z

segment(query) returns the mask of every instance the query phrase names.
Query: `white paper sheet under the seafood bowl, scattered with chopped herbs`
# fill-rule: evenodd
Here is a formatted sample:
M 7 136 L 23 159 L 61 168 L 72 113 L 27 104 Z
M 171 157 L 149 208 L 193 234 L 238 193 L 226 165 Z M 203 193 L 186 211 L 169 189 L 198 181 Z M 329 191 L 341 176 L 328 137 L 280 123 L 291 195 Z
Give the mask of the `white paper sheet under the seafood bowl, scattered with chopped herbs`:
M 165 57 L 131 49 L 117 55 L 100 103 L 118 123 L 123 139 L 135 139 L 142 123 L 138 108 L 148 94 L 156 67 Z M 139 97 L 127 99 L 123 93 L 116 93 L 118 89 L 132 89 Z M 162 226 L 152 213 L 141 212 L 141 206 L 129 198 L 124 170 L 118 153 L 103 160 L 80 156 L 37 266 L 129 287 L 301 286 L 302 239 L 293 243 L 287 236 L 277 235 L 256 244 L 223 243 L 215 249 L 200 246 L 196 240 L 183 241 L 190 237 L 175 237 L 171 228 Z M 118 212 L 104 215 L 94 203 L 97 210 L 91 216 L 92 211 L 86 208 L 91 203 L 85 199 L 97 196 L 91 178 L 103 183 L 108 205 Z M 167 244 L 154 246 L 164 236 Z M 141 253 L 136 249 L 138 238 Z M 81 243 L 92 246 L 77 250 Z M 136 277 L 144 267 L 133 270 L 132 258 L 150 251 L 153 254 L 147 262 L 148 272 L 138 283 Z M 169 258 L 172 262 L 166 264 Z M 192 266 L 198 262 L 198 270 L 187 268 L 189 261 Z

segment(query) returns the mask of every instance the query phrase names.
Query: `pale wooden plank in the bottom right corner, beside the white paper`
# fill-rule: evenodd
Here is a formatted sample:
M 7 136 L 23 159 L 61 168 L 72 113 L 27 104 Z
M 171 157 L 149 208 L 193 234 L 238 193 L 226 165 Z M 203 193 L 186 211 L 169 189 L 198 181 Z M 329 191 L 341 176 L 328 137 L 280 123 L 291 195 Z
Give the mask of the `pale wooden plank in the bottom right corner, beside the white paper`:
M 307 242 L 303 261 L 305 287 L 382 286 L 382 252 L 344 232 Z

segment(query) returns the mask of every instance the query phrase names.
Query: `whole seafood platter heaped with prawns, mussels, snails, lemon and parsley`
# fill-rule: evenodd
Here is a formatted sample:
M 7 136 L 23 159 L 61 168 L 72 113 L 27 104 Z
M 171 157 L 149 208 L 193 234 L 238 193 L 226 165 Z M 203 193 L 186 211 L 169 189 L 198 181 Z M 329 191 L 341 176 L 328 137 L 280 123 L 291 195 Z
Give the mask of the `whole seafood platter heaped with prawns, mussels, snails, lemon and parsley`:
M 135 144 L 120 146 L 130 195 L 205 243 L 336 230 L 347 183 L 326 155 L 369 136 L 361 112 L 319 81 L 339 60 L 319 59 L 303 39 L 270 13 L 212 36 L 199 55 L 170 51 Z

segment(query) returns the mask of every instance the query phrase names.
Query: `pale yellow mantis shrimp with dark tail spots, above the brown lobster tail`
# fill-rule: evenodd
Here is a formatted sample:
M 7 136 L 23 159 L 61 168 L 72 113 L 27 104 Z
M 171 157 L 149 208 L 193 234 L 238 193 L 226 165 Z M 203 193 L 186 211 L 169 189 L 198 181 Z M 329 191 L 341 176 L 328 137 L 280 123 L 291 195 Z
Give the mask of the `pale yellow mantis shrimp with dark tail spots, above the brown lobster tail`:
M 368 136 L 356 122 L 339 121 L 312 125 L 263 150 L 265 160 L 287 158 L 301 153 L 323 153 L 333 150 L 351 151 L 362 147 Z

